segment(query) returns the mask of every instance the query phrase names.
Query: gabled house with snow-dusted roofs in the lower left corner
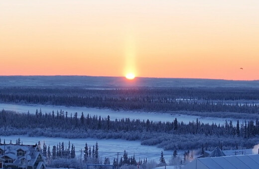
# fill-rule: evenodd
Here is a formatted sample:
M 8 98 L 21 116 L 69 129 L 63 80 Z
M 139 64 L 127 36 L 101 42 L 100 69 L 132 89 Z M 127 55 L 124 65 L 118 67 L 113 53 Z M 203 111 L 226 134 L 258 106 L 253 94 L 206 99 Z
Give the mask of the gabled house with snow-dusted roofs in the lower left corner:
M 36 145 L 0 144 L 0 169 L 46 169 Z

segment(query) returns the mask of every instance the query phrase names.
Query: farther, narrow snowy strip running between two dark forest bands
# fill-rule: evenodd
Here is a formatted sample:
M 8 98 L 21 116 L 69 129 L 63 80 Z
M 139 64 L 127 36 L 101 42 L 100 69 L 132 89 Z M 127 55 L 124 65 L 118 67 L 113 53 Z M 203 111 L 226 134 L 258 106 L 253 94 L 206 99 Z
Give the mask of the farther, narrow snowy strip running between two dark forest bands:
M 81 112 L 84 113 L 86 116 L 87 114 L 93 115 L 100 115 L 101 117 L 107 117 L 110 115 L 111 120 L 121 119 L 121 118 L 130 118 L 133 119 L 140 119 L 140 120 L 147 120 L 150 121 L 170 121 L 172 122 L 175 118 L 177 120 L 183 121 L 184 123 L 189 123 L 189 121 L 196 121 L 198 118 L 203 123 L 217 123 L 217 124 L 225 124 L 225 121 L 228 122 L 230 120 L 233 121 L 233 125 L 237 123 L 236 119 L 225 119 L 225 118 L 215 118 L 215 117 L 200 117 L 200 116 L 191 116 L 191 115 L 182 115 L 182 114 L 172 114 L 172 113 L 157 113 L 157 112 L 137 112 L 137 111 L 115 111 L 115 110 L 109 110 L 109 109 L 98 109 L 98 108 L 87 108 L 87 107 L 66 107 L 66 106 L 55 106 L 55 105 L 40 105 L 40 104 L 6 104 L 6 103 L 0 103 L 0 109 L 4 110 L 13 110 L 20 113 L 27 113 L 28 111 L 30 113 L 35 113 L 36 109 L 40 109 L 43 113 L 52 112 L 53 110 L 60 111 L 62 109 L 63 111 L 67 111 L 69 114 L 74 114 L 75 112 L 78 112 L 78 116 L 81 116 Z M 241 121 L 242 122 L 242 121 Z

